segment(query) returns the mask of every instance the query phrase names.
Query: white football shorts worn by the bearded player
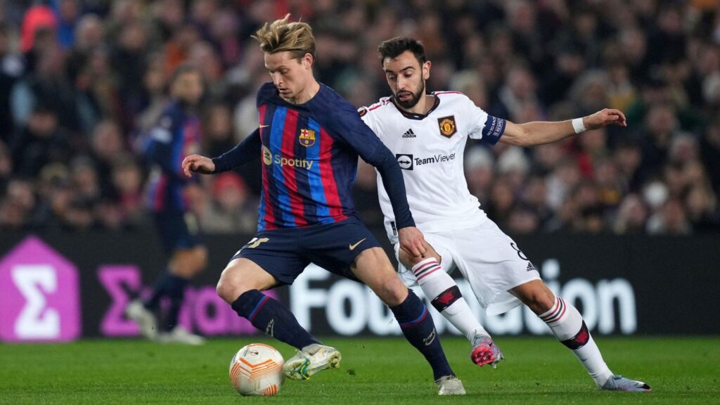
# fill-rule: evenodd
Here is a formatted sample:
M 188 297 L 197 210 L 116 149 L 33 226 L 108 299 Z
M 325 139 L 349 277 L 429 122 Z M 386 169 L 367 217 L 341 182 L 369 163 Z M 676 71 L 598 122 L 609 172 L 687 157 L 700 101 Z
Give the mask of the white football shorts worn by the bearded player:
M 460 270 L 487 315 L 505 313 L 520 305 L 508 290 L 540 280 L 539 272 L 518 244 L 489 218 L 473 228 L 423 234 L 440 254 L 443 270 L 450 274 Z M 396 259 L 399 250 L 400 244 L 395 244 Z M 409 287 L 418 285 L 413 272 L 402 263 L 398 265 L 398 272 Z

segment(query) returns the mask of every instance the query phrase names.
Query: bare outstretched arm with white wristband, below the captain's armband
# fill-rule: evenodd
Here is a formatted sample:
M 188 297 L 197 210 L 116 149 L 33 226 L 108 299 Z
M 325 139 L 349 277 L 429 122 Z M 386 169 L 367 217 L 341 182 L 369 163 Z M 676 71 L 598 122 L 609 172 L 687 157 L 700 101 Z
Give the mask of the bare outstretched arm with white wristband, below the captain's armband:
M 620 110 L 606 108 L 575 120 L 556 122 L 533 122 L 516 124 L 508 121 L 500 142 L 516 146 L 536 146 L 553 143 L 585 130 L 596 130 L 608 125 L 627 126 L 625 115 Z

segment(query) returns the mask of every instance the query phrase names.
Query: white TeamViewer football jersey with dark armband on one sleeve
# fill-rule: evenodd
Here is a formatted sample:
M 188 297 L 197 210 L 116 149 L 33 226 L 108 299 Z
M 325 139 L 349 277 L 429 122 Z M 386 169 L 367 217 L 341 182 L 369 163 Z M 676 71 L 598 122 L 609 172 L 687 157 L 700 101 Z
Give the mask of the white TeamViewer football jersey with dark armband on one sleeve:
M 505 131 L 501 120 L 459 92 L 435 92 L 427 115 L 403 112 L 390 97 L 360 108 L 362 120 L 395 154 L 405 178 L 415 225 L 423 232 L 454 231 L 478 226 L 487 216 L 465 180 L 463 153 L 467 138 L 497 143 Z M 385 230 L 397 242 L 395 215 L 382 178 L 377 176 Z

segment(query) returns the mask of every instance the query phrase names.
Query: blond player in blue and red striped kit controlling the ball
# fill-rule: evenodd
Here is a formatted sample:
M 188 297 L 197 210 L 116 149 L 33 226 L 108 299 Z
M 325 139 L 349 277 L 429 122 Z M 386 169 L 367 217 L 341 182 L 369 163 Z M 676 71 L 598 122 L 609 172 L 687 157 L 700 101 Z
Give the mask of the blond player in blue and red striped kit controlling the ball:
M 261 291 L 291 284 L 310 262 L 364 282 L 390 306 L 405 337 L 426 357 L 438 393 L 464 394 L 426 306 L 402 284 L 354 210 L 351 186 L 361 156 L 387 184 L 401 248 L 423 254 L 423 236 L 410 214 L 395 156 L 351 104 L 315 80 L 312 30 L 288 18 L 264 25 L 254 36 L 272 78 L 258 90 L 259 128 L 220 157 L 193 155 L 183 162 L 190 175 L 225 172 L 261 159 L 258 232 L 225 267 L 217 293 L 253 326 L 299 350 L 285 362 L 284 373 L 302 380 L 337 368 L 340 352 L 321 344 Z

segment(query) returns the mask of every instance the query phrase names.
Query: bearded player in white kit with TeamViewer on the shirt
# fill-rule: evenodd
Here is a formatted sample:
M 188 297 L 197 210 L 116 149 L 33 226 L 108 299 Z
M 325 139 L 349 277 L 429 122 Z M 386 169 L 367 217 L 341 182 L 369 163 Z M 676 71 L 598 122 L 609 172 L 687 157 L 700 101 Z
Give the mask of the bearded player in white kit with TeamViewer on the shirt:
M 651 391 L 641 381 L 611 372 L 580 312 L 546 287 L 517 244 L 479 209 L 463 170 L 467 138 L 491 145 L 500 141 L 534 146 L 586 129 L 626 126 L 623 113 L 606 109 L 575 120 L 518 125 L 487 115 L 462 93 L 426 94 L 431 62 L 417 40 L 397 37 L 381 43 L 378 50 L 393 95 L 362 107 L 359 114 L 395 153 L 413 218 L 430 245 L 423 257 L 413 257 L 398 246 L 390 199 L 378 177 L 384 225 L 395 245 L 403 280 L 410 285 L 417 282 L 433 306 L 465 334 L 477 365 L 494 367 L 503 354 L 448 274 L 455 268 L 469 281 L 487 313 L 504 313 L 520 303 L 531 308 L 575 353 L 600 389 Z

